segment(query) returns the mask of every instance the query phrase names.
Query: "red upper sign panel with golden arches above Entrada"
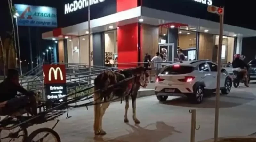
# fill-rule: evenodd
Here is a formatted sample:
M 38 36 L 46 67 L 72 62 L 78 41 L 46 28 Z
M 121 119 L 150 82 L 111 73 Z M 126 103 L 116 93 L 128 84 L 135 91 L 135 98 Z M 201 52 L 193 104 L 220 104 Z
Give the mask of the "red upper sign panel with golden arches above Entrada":
M 66 68 L 64 64 L 43 65 L 44 84 L 66 83 Z

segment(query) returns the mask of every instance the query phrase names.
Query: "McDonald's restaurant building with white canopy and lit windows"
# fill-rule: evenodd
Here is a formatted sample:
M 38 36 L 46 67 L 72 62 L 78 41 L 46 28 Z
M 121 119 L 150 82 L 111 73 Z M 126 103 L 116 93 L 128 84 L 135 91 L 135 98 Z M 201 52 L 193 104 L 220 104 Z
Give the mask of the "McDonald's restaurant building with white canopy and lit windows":
M 173 61 L 179 49 L 188 60 L 216 61 L 219 16 L 207 12 L 208 5 L 219 6 L 215 0 L 62 0 L 59 28 L 42 38 L 58 40 L 59 62 L 102 66 L 106 56 L 118 57 L 118 63 L 141 62 L 145 53 L 152 58 L 157 51 Z M 221 59 L 227 63 L 242 52 L 243 38 L 256 31 L 224 21 L 223 34 Z

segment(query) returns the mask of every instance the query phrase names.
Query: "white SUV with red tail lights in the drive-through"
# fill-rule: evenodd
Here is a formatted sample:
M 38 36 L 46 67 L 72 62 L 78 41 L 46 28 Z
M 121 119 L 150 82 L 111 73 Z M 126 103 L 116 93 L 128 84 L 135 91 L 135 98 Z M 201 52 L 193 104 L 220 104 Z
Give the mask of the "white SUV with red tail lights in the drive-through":
M 159 101 L 168 96 L 187 96 L 194 103 L 201 103 L 204 93 L 216 92 L 217 65 L 209 60 L 178 61 L 162 69 L 156 80 L 155 95 Z M 220 91 L 228 94 L 232 79 L 221 69 Z

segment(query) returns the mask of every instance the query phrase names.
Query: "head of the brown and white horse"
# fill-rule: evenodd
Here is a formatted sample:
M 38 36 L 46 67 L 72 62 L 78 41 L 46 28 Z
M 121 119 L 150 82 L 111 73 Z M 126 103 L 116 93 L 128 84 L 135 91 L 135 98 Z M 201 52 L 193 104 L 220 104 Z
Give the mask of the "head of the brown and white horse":
M 142 86 L 143 88 L 146 88 L 148 86 L 148 73 L 146 72 L 146 69 L 144 67 L 137 67 L 134 69 L 133 75 L 135 76 L 135 80 L 137 84 Z

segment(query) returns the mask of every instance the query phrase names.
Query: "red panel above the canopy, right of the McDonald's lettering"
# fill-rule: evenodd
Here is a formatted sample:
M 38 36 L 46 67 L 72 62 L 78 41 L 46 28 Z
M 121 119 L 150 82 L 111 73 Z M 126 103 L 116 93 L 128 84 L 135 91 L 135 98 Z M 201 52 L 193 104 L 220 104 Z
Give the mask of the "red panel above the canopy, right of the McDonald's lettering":
M 116 0 L 116 12 L 125 11 L 138 6 L 138 0 Z

